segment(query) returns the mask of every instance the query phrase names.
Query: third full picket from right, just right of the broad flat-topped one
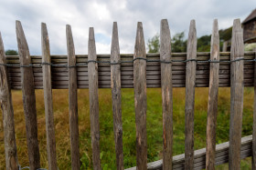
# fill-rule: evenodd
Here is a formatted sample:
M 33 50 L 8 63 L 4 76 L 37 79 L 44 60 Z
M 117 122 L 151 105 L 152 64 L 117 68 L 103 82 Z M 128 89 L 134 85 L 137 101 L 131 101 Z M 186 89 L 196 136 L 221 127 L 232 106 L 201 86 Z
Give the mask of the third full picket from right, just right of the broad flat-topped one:
M 187 39 L 187 60 L 197 58 L 196 22 L 191 20 Z M 194 105 L 196 86 L 195 61 L 187 62 L 186 70 L 186 101 L 185 101 L 185 169 L 194 166 Z

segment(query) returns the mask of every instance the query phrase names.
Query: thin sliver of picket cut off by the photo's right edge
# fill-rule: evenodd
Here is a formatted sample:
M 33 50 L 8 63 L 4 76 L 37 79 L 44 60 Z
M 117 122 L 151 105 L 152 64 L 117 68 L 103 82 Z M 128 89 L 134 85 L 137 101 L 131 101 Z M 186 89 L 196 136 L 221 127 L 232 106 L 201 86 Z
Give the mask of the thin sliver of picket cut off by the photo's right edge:
M 256 59 L 256 48 L 254 49 Z M 253 102 L 253 125 L 252 125 L 252 158 L 251 169 L 256 170 L 256 63 L 254 64 L 254 102 Z

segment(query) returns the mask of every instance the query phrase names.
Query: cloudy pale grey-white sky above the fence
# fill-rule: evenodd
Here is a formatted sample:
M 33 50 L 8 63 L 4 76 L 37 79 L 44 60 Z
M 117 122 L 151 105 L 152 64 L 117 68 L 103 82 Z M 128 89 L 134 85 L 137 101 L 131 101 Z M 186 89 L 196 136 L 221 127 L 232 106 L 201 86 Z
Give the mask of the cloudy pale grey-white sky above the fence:
M 41 55 L 41 23 L 48 26 L 51 55 L 66 55 L 66 25 L 71 25 L 76 55 L 88 52 L 89 27 L 94 27 L 97 54 L 110 54 L 112 23 L 117 22 L 120 51 L 133 54 L 137 22 L 143 22 L 145 42 L 160 33 L 167 19 L 171 36 L 185 32 L 196 20 L 197 37 L 210 35 L 233 20 L 242 22 L 256 8 L 255 0 L 0 0 L 0 32 L 5 50 L 17 50 L 16 20 L 23 25 L 31 55 Z

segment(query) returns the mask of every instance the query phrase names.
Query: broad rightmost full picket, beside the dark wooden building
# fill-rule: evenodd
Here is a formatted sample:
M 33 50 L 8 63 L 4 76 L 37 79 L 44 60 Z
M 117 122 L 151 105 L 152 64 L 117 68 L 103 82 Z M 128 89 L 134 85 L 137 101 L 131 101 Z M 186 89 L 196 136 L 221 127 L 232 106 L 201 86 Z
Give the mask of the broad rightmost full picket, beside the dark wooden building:
M 243 58 L 243 35 L 240 19 L 235 19 L 232 29 L 230 60 Z M 240 138 L 243 109 L 243 61 L 230 66 L 230 123 L 229 169 L 240 169 Z

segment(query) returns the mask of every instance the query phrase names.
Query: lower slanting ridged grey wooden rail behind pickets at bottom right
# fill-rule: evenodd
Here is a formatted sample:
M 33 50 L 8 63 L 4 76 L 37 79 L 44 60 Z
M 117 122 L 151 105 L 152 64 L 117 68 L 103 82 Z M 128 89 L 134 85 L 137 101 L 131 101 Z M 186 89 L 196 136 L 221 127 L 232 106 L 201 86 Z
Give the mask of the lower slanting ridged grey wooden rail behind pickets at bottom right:
M 251 141 L 252 135 L 241 138 L 240 147 L 240 158 L 246 158 L 251 156 Z M 215 165 L 222 165 L 229 163 L 229 142 L 216 145 L 216 156 Z M 173 157 L 173 169 L 179 170 L 184 169 L 185 164 L 185 154 L 176 155 Z M 147 164 L 147 169 L 151 170 L 162 170 L 163 160 L 155 161 Z M 206 168 L 206 148 L 198 149 L 194 154 L 194 169 L 204 169 Z M 136 167 L 131 167 L 126 170 L 135 170 Z

